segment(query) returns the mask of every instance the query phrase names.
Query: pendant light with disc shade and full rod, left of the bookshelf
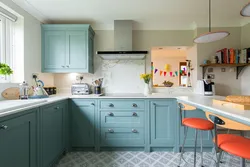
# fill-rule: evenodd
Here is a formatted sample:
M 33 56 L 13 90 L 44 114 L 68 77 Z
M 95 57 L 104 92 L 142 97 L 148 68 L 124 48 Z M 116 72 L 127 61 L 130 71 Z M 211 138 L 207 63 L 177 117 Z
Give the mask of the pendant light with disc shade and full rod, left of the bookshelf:
M 195 43 L 209 43 L 221 40 L 230 35 L 227 31 L 211 31 L 211 0 L 209 0 L 209 32 L 199 35 L 194 39 Z

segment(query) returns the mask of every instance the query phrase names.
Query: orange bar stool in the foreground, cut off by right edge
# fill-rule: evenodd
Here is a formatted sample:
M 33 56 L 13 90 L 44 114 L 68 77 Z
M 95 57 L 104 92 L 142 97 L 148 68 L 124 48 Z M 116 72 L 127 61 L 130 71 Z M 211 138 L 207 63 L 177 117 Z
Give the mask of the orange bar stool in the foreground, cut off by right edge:
M 217 158 L 218 160 L 216 163 L 216 167 L 220 166 L 220 160 L 223 151 L 240 157 L 241 167 L 245 167 L 246 159 L 250 160 L 250 139 L 245 138 L 244 135 L 238 136 L 233 134 L 218 134 L 217 126 L 226 129 L 240 130 L 241 132 L 249 131 L 250 126 L 232 121 L 210 112 L 206 112 L 206 116 L 211 122 L 214 123 L 215 137 L 213 141 L 216 145 L 216 151 L 220 152 L 219 157 Z

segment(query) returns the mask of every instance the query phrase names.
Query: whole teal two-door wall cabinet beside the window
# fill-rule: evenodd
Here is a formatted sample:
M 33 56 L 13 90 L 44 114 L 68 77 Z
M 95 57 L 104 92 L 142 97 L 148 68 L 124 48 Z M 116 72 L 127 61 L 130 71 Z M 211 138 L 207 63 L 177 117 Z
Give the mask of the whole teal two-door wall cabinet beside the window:
M 88 24 L 43 24 L 42 72 L 93 73 L 94 35 Z

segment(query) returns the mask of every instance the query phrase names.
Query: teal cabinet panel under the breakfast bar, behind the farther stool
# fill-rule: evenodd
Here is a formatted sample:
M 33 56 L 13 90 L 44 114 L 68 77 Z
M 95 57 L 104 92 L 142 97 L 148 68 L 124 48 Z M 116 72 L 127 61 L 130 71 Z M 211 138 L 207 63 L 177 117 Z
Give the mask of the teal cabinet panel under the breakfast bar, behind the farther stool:
M 178 110 L 179 112 L 179 110 Z M 184 111 L 182 113 L 182 118 L 189 118 L 189 117 L 194 117 L 194 118 L 203 118 L 203 119 L 207 119 L 205 112 L 200 110 L 200 109 L 196 109 L 194 111 Z M 180 120 L 180 119 L 179 119 Z M 179 121 L 180 122 L 180 121 Z M 180 144 L 179 147 L 181 147 L 181 144 L 184 140 L 184 127 L 180 125 Z M 195 139 L 195 130 L 193 128 L 188 128 L 188 133 L 187 133 L 187 139 L 185 142 L 185 147 L 194 148 L 194 139 Z M 211 148 L 213 147 L 213 143 L 212 143 L 212 137 L 211 137 L 211 133 L 210 131 L 202 131 L 202 142 L 203 142 L 203 147 L 206 149 L 209 149 L 209 151 L 211 151 Z M 200 131 L 198 134 L 198 142 L 197 145 L 200 146 Z

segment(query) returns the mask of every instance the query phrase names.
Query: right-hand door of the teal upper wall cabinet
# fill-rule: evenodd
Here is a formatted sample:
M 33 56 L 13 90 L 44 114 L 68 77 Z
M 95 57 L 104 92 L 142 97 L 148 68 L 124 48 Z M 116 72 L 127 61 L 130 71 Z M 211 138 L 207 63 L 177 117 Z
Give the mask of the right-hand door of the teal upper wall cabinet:
M 86 31 L 67 31 L 67 67 L 87 72 L 88 68 L 88 39 Z

